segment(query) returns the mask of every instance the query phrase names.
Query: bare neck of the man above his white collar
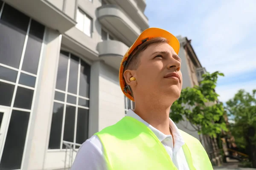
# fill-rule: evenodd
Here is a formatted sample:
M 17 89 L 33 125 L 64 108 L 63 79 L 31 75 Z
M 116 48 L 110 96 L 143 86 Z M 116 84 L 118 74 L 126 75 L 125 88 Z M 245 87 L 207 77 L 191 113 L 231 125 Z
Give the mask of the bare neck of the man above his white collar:
M 152 104 L 152 103 L 151 103 Z M 148 105 L 145 102 L 136 102 L 134 112 L 145 122 L 159 130 L 160 132 L 170 135 L 169 112 L 171 106 L 158 105 L 159 102 Z

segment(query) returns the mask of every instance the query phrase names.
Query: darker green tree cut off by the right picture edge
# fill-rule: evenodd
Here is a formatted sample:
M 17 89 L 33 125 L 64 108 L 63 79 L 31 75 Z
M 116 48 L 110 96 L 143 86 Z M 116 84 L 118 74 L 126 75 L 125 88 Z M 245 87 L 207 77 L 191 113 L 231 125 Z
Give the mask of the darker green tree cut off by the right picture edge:
M 244 148 L 249 160 L 256 168 L 256 90 L 252 93 L 239 90 L 227 101 L 226 110 L 230 117 L 230 131 L 240 148 Z

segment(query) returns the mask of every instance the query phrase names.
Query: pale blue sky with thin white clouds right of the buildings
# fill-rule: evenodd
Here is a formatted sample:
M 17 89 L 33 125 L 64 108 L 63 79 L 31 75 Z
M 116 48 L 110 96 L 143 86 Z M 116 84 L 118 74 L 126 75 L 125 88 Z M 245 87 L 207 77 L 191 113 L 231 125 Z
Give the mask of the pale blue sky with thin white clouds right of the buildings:
M 150 27 L 192 40 L 201 64 L 221 71 L 216 88 L 226 102 L 256 89 L 256 0 L 146 0 Z

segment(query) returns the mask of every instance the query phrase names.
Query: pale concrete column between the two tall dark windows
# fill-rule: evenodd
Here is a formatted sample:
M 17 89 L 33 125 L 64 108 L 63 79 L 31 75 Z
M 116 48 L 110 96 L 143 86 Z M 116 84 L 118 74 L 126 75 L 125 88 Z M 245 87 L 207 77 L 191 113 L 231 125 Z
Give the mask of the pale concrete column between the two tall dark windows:
M 48 149 L 52 119 L 52 107 L 58 59 L 61 47 L 61 35 L 46 28 L 41 68 L 35 107 L 32 114 L 23 170 L 43 170 Z

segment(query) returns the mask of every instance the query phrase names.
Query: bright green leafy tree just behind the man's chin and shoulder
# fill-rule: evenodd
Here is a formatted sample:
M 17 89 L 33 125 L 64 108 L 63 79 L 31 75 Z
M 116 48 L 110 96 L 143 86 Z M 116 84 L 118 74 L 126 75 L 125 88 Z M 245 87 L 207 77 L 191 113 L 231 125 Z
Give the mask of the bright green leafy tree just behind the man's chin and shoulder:
M 186 119 L 198 134 L 214 138 L 221 130 L 227 130 L 225 122 L 220 121 L 224 113 L 223 104 L 218 102 L 215 92 L 218 76 L 224 74 L 218 71 L 206 73 L 199 86 L 183 89 L 180 98 L 172 104 L 169 117 L 174 122 Z

